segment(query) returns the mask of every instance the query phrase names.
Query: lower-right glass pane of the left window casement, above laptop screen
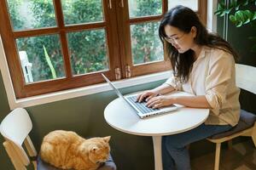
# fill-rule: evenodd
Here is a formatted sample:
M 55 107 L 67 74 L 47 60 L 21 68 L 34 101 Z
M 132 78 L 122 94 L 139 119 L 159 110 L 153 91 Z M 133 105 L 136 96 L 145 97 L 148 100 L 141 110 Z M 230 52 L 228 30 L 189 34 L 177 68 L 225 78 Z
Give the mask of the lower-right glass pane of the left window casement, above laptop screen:
M 108 52 L 104 30 L 68 33 L 73 75 L 108 70 Z

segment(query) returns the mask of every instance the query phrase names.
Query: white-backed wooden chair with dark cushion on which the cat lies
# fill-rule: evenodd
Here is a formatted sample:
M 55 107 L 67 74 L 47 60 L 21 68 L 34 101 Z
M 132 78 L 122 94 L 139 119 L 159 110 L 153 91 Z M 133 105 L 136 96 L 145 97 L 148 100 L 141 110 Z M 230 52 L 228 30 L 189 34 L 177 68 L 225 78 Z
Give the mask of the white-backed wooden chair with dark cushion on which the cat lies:
M 0 125 L 0 132 L 5 141 L 3 146 L 7 151 L 10 160 L 12 161 L 16 170 L 26 170 L 31 160 L 35 169 L 39 170 L 58 170 L 58 168 L 50 166 L 45 163 L 38 156 L 32 140 L 29 138 L 28 133 L 32 130 L 32 121 L 28 116 L 25 109 L 18 108 L 11 111 L 8 116 L 5 116 Z M 22 147 L 25 144 L 26 151 Z M 116 166 L 110 156 L 106 163 L 99 167 L 98 170 L 115 170 Z

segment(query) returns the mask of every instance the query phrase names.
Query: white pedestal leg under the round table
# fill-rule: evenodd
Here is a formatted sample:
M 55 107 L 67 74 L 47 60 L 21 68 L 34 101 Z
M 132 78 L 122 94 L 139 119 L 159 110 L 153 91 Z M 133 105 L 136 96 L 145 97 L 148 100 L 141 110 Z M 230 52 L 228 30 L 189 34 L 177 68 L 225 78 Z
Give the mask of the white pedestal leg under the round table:
M 154 170 L 162 170 L 162 137 L 153 136 L 154 144 Z

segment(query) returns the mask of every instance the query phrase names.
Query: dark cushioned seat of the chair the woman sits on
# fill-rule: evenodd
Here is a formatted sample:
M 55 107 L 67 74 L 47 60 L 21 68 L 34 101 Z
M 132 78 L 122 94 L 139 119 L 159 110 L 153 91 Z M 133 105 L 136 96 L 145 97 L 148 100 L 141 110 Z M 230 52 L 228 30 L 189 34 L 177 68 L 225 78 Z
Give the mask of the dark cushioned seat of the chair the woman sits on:
M 240 119 L 236 127 L 232 127 L 229 131 L 226 131 L 224 133 L 214 134 L 208 139 L 221 139 L 226 136 L 230 136 L 234 133 L 241 132 L 242 130 L 245 130 L 249 127 L 253 127 L 255 121 L 256 121 L 256 116 L 253 115 L 253 113 L 241 110 Z

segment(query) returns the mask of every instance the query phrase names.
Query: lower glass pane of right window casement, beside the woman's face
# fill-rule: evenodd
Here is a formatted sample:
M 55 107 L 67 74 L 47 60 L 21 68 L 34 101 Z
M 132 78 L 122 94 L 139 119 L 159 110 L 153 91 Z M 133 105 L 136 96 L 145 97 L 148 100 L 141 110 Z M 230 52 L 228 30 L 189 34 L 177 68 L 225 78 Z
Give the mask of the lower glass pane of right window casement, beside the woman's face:
M 133 64 L 143 64 L 164 59 L 163 46 L 158 36 L 159 22 L 131 26 Z

